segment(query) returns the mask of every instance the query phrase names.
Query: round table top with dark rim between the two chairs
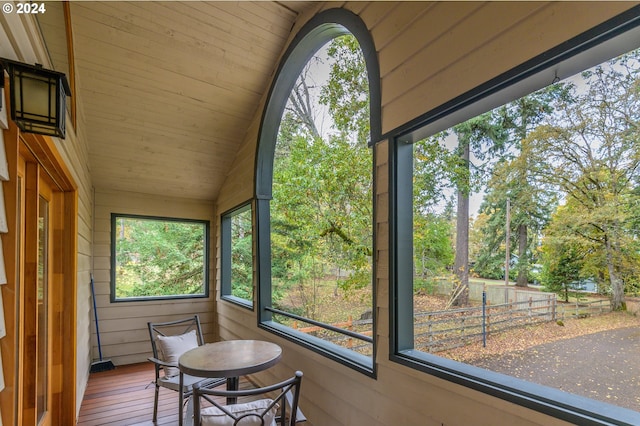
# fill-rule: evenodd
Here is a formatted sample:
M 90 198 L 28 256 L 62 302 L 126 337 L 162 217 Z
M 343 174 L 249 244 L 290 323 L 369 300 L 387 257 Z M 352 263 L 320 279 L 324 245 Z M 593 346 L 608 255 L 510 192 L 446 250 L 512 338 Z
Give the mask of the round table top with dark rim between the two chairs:
M 282 348 L 262 340 L 207 343 L 180 356 L 178 367 L 198 377 L 238 377 L 265 370 L 282 356 Z

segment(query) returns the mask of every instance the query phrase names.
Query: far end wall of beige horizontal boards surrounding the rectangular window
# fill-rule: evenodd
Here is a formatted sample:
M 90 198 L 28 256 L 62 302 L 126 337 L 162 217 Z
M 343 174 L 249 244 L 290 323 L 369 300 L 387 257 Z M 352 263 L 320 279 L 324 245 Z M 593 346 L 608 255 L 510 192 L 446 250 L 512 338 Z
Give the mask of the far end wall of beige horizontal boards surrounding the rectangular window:
M 193 314 L 200 315 L 205 341 L 215 341 L 214 248 L 210 250 L 209 298 L 111 303 L 111 213 L 209 220 L 212 246 L 217 232 L 212 202 L 96 190 L 93 273 L 103 358 L 111 359 L 115 365 L 145 362 L 151 356 L 147 322 L 171 321 Z M 93 359 L 98 359 L 94 324 L 92 319 L 91 353 Z

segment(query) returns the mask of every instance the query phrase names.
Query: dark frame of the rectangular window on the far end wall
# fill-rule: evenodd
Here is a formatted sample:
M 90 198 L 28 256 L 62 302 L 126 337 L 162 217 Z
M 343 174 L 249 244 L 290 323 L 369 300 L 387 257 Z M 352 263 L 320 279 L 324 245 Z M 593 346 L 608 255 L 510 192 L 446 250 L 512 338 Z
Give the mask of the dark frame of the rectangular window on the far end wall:
M 198 294 L 179 294 L 179 295 L 170 295 L 170 296 L 142 296 L 142 297 L 127 297 L 127 298 L 117 298 L 116 297 L 116 221 L 119 218 L 128 218 L 128 219 L 139 219 L 139 220 L 156 220 L 163 222 L 182 222 L 182 223 L 198 223 L 203 225 L 204 227 L 204 241 L 203 241 L 203 249 L 204 249 L 204 276 L 203 276 L 203 293 Z M 209 268 L 210 268 L 210 228 L 211 224 L 208 220 L 204 219 L 188 219 L 188 218 L 176 218 L 176 217 L 166 217 L 166 216 L 149 216 L 149 215 L 137 215 L 137 214 L 128 214 L 128 213 L 111 213 L 111 279 L 110 279 L 110 294 L 109 298 L 111 303 L 127 303 L 127 302 L 147 302 L 147 301 L 157 301 L 157 300 L 181 300 L 181 299 L 206 299 L 209 297 Z

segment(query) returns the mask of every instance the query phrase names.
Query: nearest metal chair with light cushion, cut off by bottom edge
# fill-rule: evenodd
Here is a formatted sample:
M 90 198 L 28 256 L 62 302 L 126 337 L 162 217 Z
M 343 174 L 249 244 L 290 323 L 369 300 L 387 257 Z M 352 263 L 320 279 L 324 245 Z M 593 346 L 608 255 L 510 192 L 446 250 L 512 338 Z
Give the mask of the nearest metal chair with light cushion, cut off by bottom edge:
M 301 383 L 301 371 L 283 382 L 254 389 L 214 389 L 196 383 L 193 385 L 193 424 L 293 426 L 304 422 L 307 419 L 298 408 Z M 229 400 L 237 402 L 225 403 Z

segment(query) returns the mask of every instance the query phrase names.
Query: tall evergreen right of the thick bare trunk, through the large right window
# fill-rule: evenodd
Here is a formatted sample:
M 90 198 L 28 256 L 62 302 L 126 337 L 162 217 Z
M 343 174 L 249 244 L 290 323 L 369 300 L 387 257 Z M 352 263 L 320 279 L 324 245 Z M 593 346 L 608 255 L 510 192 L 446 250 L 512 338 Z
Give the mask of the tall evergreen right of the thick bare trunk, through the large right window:
M 553 101 L 564 96 L 561 86 L 552 85 L 497 108 L 492 116 L 495 125 L 502 126 L 506 133 L 506 152 L 491 171 L 488 195 L 481 206 L 481 211 L 492 217 L 487 221 L 489 227 L 483 231 L 486 250 L 477 259 L 476 265 L 479 271 L 495 275 L 496 259 L 504 260 L 506 257 L 508 199 L 511 235 L 508 245 L 517 247 L 516 285 L 520 287 L 527 286 L 536 237 L 548 220 L 553 205 L 550 189 L 529 172 L 532 157 L 522 149 L 522 141 L 550 116 Z M 503 262 L 501 270 L 504 266 Z

